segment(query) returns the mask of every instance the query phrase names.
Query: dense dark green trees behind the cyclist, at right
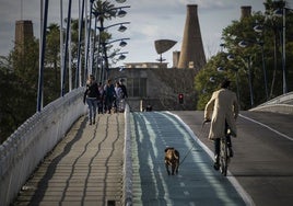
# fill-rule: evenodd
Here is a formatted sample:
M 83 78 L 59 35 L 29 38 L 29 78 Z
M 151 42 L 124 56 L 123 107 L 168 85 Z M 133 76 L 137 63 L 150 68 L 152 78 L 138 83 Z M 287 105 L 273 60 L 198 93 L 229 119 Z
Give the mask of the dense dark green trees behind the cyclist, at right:
M 251 16 L 233 21 L 231 25 L 223 30 L 222 52 L 212 57 L 195 79 L 196 90 L 199 95 L 198 110 L 204 107 L 211 93 L 216 89 L 216 85 L 223 78 L 231 79 L 233 90 L 239 92 L 238 98 L 242 110 L 248 110 L 251 106 L 266 102 L 262 48 L 265 70 L 267 73 L 268 99 L 283 93 L 282 42 L 280 41 L 283 34 L 282 18 L 273 15 L 273 11 L 278 8 L 283 8 L 283 1 L 267 0 L 263 3 L 266 5 L 265 13 L 254 12 Z M 285 18 L 286 84 L 288 91 L 292 91 L 293 26 L 290 25 L 293 25 L 293 13 L 288 11 Z M 256 25 L 262 25 L 263 32 L 255 32 L 254 26 Z M 243 48 L 238 46 L 241 41 L 246 41 L 247 47 Z M 262 45 L 263 47 L 261 47 Z M 234 60 L 228 60 L 228 55 L 233 55 Z M 250 104 L 248 59 L 250 60 L 254 105 Z M 224 71 L 219 72 L 219 67 L 222 67 Z M 213 77 L 216 83 L 211 83 L 209 81 L 210 77 Z

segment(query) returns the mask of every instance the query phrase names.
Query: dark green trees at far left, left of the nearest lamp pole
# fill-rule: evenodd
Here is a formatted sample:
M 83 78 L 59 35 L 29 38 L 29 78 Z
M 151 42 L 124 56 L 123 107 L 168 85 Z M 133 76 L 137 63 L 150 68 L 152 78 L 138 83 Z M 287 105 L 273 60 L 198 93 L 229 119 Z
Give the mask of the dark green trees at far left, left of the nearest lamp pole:
M 4 60 L 5 59 L 5 60 Z M 35 39 L 2 57 L 0 79 L 1 142 L 36 111 L 38 46 Z

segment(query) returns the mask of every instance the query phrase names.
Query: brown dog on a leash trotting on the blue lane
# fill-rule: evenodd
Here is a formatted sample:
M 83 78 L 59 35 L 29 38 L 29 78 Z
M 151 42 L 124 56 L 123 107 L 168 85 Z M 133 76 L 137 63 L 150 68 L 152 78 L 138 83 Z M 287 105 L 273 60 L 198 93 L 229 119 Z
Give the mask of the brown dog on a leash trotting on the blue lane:
M 174 175 L 174 173 L 178 174 L 179 157 L 180 157 L 179 152 L 173 147 L 167 147 L 165 149 L 165 167 L 166 167 L 168 175 L 169 175 L 169 170 L 168 170 L 169 165 L 172 169 L 172 175 Z

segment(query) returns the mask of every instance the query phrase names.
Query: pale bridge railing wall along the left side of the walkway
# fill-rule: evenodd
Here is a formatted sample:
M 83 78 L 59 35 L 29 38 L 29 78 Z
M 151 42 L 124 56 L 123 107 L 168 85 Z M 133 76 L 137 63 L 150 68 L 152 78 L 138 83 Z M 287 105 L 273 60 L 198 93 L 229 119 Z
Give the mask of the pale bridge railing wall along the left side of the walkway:
M 75 89 L 34 114 L 0 146 L 0 203 L 10 205 L 33 171 L 86 113 L 83 88 Z

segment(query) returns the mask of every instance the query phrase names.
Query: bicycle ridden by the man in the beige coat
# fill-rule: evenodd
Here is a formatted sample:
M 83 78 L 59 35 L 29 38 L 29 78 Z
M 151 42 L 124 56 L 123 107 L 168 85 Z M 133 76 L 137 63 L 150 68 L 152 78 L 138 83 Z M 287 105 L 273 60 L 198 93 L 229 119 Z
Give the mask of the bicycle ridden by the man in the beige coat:
M 206 119 L 202 124 L 202 126 L 206 123 L 210 123 L 210 119 Z M 219 154 L 219 168 L 215 168 L 215 170 L 220 169 L 220 172 L 222 175 L 226 176 L 227 174 L 227 167 L 230 163 L 230 150 L 228 150 L 228 146 L 227 146 L 227 136 L 230 136 L 230 128 L 227 126 L 227 124 L 225 123 L 225 135 L 224 137 L 220 138 L 220 154 Z

